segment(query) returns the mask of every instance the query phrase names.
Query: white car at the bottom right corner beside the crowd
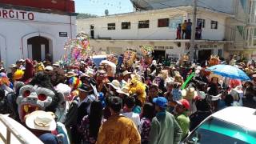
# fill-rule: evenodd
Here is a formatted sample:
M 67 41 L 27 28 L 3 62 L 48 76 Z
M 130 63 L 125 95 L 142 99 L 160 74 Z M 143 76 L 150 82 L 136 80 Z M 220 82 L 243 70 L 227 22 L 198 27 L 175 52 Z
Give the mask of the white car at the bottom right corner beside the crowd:
M 230 106 L 211 114 L 185 144 L 256 144 L 256 110 Z

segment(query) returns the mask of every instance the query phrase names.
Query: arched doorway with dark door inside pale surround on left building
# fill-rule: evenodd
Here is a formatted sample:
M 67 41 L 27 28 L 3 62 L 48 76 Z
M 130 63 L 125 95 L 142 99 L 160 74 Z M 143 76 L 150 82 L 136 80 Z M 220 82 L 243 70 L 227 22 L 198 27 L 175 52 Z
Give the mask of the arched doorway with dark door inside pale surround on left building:
M 30 39 L 32 38 L 32 39 Z M 36 42 L 38 41 L 38 39 L 41 39 L 38 43 L 40 46 L 38 46 L 38 44 L 35 44 L 34 46 L 31 46 L 31 40 L 32 42 Z M 34 41 L 33 41 L 34 40 Z M 48 50 L 46 49 L 46 43 L 45 41 L 48 41 Z M 35 59 L 37 60 L 45 60 L 46 56 L 50 54 L 50 59 L 53 61 L 54 60 L 54 47 L 56 47 L 56 39 L 54 38 L 54 36 L 52 36 L 51 34 L 47 34 L 47 33 L 42 33 L 42 32 L 35 32 L 35 33 L 30 33 L 30 34 L 26 34 L 25 36 L 22 37 L 22 50 L 23 50 L 23 58 L 33 58 L 33 47 L 35 47 L 35 49 L 38 49 L 41 54 L 35 54 L 34 57 L 36 57 Z M 38 47 L 38 48 L 36 48 Z M 45 48 L 43 48 L 45 47 Z M 43 49 L 45 50 L 44 53 Z M 34 50 L 37 51 L 37 50 Z M 55 51 L 56 52 L 56 51 Z M 43 55 L 43 54 L 45 55 Z M 38 56 L 36 56 L 38 55 Z

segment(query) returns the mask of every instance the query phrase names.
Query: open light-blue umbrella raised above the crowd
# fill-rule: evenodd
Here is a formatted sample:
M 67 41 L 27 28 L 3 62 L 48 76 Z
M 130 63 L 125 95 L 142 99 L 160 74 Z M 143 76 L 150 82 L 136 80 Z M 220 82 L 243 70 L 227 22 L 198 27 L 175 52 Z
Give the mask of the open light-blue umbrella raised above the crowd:
M 250 80 L 250 78 L 244 71 L 240 70 L 238 67 L 235 66 L 215 65 L 210 66 L 206 70 L 226 78 L 240 79 L 242 81 Z

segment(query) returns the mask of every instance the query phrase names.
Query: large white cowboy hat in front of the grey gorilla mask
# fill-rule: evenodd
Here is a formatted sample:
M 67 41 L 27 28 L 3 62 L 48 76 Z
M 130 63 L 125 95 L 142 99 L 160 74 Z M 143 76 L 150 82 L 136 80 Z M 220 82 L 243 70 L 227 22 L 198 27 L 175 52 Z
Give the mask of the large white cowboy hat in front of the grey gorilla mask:
M 26 116 L 26 126 L 34 130 L 52 131 L 56 129 L 56 122 L 52 113 L 37 110 Z

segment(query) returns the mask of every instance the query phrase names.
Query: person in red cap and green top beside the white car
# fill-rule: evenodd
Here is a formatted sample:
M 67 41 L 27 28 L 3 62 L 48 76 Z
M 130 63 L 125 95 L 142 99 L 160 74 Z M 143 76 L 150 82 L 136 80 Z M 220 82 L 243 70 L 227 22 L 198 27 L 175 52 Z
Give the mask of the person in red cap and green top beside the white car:
M 186 99 L 177 101 L 176 113 L 175 116 L 179 126 L 182 128 L 182 139 L 190 132 L 190 118 L 186 115 L 186 112 L 190 109 L 190 102 Z

